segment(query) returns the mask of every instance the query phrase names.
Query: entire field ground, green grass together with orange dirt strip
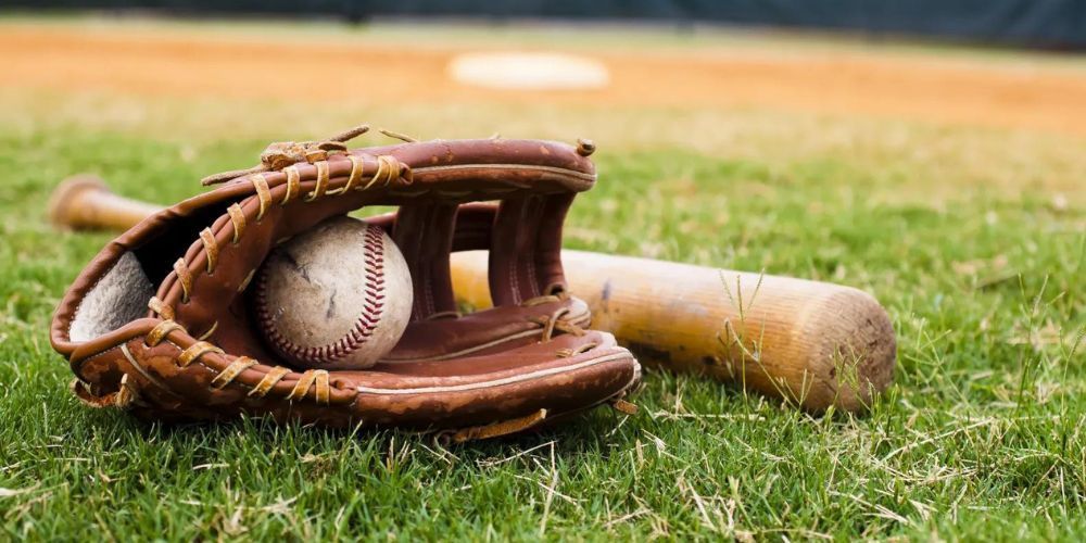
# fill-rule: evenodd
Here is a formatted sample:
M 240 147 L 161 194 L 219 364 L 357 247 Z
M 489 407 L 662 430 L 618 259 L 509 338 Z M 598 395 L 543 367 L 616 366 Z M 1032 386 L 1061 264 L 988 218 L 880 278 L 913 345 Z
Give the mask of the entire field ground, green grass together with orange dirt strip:
M 601 59 L 480 91 L 459 51 Z M 817 36 L 0 20 L 0 520 L 9 536 L 1076 539 L 1086 531 L 1086 56 Z M 807 417 L 652 372 L 642 415 L 441 451 L 261 421 L 160 428 L 66 392 L 47 328 L 109 236 L 43 220 L 93 172 L 168 203 L 267 141 L 590 137 L 573 248 L 874 293 L 897 386 Z M 377 137 L 368 140 L 378 141 Z

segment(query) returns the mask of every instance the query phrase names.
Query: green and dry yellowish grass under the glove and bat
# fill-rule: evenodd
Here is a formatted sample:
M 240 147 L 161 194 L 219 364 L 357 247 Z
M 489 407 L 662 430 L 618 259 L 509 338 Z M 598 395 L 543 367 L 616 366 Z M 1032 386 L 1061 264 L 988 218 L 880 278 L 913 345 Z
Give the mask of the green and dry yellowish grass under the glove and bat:
M 968 58 L 968 51 L 957 55 Z M 998 58 L 985 62 L 998 63 Z M 915 539 L 1086 534 L 1086 141 L 757 109 L 298 104 L 0 91 L 0 533 L 29 540 Z M 304 115 L 304 121 L 299 121 Z M 571 248 L 831 280 L 898 333 L 862 417 L 647 374 L 605 409 L 443 450 L 258 419 L 163 427 L 66 390 L 51 313 L 108 235 L 63 177 L 172 202 L 269 140 L 593 136 Z M 372 141 L 372 140 L 370 140 Z

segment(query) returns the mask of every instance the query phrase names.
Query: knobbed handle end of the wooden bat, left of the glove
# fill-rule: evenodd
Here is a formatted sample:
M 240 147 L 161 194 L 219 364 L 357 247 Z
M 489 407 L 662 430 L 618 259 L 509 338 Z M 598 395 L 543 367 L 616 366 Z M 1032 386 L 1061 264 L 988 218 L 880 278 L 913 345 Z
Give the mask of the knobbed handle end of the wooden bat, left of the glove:
M 90 174 L 65 179 L 49 199 L 50 220 L 73 230 L 127 230 L 161 210 L 113 193 Z

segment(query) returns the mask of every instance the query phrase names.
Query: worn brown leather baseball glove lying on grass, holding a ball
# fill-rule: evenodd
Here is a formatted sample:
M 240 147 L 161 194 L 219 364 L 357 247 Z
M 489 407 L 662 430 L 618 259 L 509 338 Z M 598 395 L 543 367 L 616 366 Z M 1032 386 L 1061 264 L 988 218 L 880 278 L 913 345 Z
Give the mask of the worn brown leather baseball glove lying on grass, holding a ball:
M 260 166 L 205 179 L 225 185 L 106 245 L 53 317 L 76 395 L 146 418 L 244 413 L 453 442 L 604 403 L 631 409 L 622 397 L 640 381 L 637 362 L 586 328 L 588 307 L 563 277 L 566 212 L 595 182 L 591 143 L 402 138 L 349 150 L 363 131 L 273 143 Z M 370 368 L 290 368 L 254 330 L 250 280 L 277 243 L 367 205 L 399 206 L 369 222 L 407 262 L 412 321 Z M 490 251 L 494 307 L 462 315 L 449 255 L 476 249 Z

